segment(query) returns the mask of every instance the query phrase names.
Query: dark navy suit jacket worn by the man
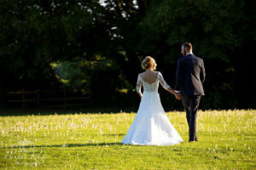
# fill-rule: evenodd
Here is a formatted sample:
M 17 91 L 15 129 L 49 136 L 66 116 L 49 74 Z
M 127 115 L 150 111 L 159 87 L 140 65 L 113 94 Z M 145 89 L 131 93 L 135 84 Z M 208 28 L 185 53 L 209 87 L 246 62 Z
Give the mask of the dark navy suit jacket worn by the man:
M 183 95 L 205 95 L 202 83 L 206 72 L 203 59 L 187 54 L 177 60 L 175 90 Z

